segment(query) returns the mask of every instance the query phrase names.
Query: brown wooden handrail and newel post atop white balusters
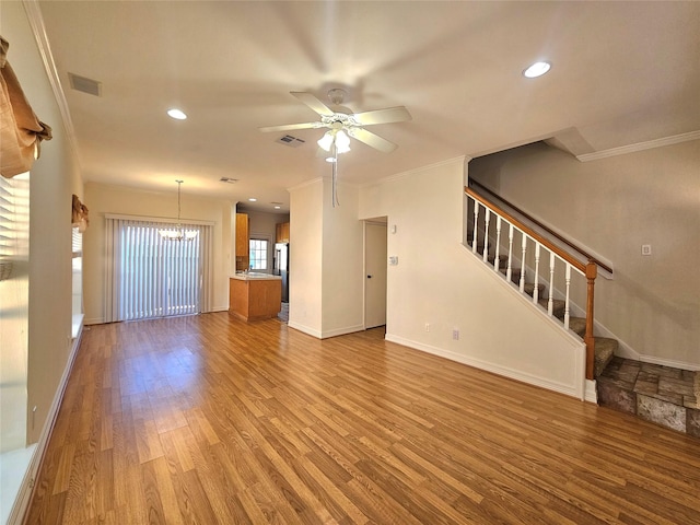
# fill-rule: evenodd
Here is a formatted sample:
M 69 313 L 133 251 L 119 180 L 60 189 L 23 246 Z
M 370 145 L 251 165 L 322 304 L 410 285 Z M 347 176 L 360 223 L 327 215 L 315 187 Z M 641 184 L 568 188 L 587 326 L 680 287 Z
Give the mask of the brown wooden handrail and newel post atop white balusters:
M 528 236 L 537 241 L 547 249 L 557 254 L 559 257 L 561 257 L 563 260 L 569 262 L 571 266 L 576 268 L 579 271 L 581 271 L 585 276 L 587 281 L 586 283 L 586 331 L 583 337 L 583 342 L 586 346 L 586 378 L 593 380 L 594 366 L 595 366 L 595 339 L 593 336 L 593 314 L 594 314 L 593 304 L 594 304 L 594 295 L 595 295 L 595 279 L 598 275 L 598 266 L 603 266 L 603 265 L 600 265 L 600 262 L 598 262 L 593 257 L 588 258 L 585 262 L 580 260 L 575 256 L 571 255 L 569 252 L 557 246 L 555 243 L 552 243 L 551 240 L 536 232 L 535 230 L 529 228 L 527 224 L 525 224 L 523 221 L 521 221 L 513 214 L 505 211 L 500 206 L 487 200 L 486 197 L 477 194 L 474 189 L 469 188 L 468 186 L 464 187 L 464 192 L 469 197 L 471 197 L 472 199 L 475 199 L 476 201 L 479 201 L 483 207 L 493 211 L 497 215 L 501 215 L 503 219 L 512 223 L 515 228 L 517 228 L 523 233 L 527 234 Z M 504 199 L 501 199 L 501 200 L 506 202 Z M 511 205 L 508 203 L 508 206 L 511 206 Z

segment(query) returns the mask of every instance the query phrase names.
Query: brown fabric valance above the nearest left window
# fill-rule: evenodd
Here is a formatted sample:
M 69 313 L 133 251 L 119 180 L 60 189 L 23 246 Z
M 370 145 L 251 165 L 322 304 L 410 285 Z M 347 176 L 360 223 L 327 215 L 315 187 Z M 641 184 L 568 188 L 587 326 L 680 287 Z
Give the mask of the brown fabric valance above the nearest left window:
M 0 36 L 0 174 L 10 178 L 28 172 L 51 128 L 39 121 L 8 62 L 8 40 Z

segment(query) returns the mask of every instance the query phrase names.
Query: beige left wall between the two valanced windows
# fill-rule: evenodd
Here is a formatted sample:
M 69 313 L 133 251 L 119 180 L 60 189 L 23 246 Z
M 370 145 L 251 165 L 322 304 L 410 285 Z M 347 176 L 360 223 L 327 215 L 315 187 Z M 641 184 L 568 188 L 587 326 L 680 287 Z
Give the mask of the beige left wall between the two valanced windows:
M 40 54 L 20 2 L 2 2 L 0 32 L 9 61 L 54 139 L 42 147 L 31 175 L 27 351 L 27 443 L 39 439 L 72 349 L 71 195 L 82 180 Z M 36 407 L 33 413 L 32 408 Z

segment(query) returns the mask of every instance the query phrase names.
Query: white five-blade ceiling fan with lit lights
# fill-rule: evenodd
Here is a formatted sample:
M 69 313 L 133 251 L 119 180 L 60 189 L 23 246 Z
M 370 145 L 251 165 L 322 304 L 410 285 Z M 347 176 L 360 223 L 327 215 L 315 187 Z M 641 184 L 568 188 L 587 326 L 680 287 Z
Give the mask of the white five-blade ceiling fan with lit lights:
M 342 106 L 347 95 L 345 90 L 339 88 L 328 91 L 328 98 L 336 110 L 329 108 L 312 93 L 291 92 L 293 96 L 306 104 L 311 109 L 320 116 L 320 120 L 315 122 L 289 124 L 283 126 L 269 126 L 259 128 L 260 131 L 290 131 L 294 129 L 328 128 L 328 131 L 318 141 L 318 145 L 332 153 L 345 153 L 350 151 L 350 139 L 359 140 L 375 150 L 390 153 L 397 144 L 390 142 L 378 135 L 364 129 L 365 126 L 376 124 L 404 122 L 411 119 L 411 114 L 404 106 L 387 107 L 372 112 L 352 113 L 348 107 Z

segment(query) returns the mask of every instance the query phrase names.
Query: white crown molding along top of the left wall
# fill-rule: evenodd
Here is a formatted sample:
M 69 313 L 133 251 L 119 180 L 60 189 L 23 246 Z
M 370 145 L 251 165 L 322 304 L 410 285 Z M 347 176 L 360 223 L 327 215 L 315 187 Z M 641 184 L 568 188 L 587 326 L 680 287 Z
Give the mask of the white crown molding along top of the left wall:
M 58 109 L 61 114 L 61 119 L 63 120 L 63 129 L 66 130 L 69 147 L 75 162 L 80 166 L 81 163 L 78 151 L 75 128 L 70 116 L 70 109 L 68 108 L 66 93 L 61 85 L 58 70 L 56 69 L 56 61 L 54 60 L 51 46 L 48 42 L 48 35 L 46 33 L 46 25 L 44 24 L 44 16 L 42 15 L 39 2 L 37 0 L 22 0 L 22 4 L 24 5 L 24 12 L 26 13 L 30 26 L 32 27 L 32 33 L 34 34 L 34 39 L 36 40 L 36 45 L 42 56 L 42 61 L 44 62 L 44 69 L 46 70 L 48 81 L 51 84 L 51 90 L 54 91 L 54 97 L 56 98 L 56 104 L 58 105 Z

